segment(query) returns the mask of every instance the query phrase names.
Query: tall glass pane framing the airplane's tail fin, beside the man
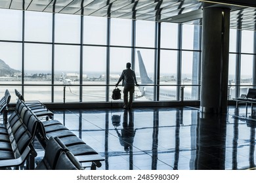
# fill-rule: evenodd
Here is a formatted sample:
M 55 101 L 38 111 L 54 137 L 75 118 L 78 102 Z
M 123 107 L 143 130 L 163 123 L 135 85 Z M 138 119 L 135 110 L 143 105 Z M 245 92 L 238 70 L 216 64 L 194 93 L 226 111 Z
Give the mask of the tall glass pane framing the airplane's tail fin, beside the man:
M 139 53 L 142 60 L 139 59 Z M 154 50 L 136 50 L 135 74 L 141 86 L 135 87 L 135 101 L 154 100 L 154 55 Z

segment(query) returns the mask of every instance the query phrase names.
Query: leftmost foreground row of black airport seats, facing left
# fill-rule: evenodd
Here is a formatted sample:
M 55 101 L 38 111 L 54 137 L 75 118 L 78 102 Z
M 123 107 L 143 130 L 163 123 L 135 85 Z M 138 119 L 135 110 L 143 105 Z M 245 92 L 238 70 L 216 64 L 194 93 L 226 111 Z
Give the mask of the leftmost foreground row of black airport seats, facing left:
M 18 169 L 27 160 L 26 166 L 34 168 L 34 158 L 37 155 L 32 141 L 37 130 L 38 120 L 25 107 L 17 103 L 7 123 L 0 124 L 0 168 L 14 167 Z

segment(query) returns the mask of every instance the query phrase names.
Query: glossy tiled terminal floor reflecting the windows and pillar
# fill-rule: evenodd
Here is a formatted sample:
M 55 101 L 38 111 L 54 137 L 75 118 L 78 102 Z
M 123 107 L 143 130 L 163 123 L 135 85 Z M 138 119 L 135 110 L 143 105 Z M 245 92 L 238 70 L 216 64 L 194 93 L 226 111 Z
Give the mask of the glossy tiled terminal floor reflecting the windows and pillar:
M 105 158 L 98 169 L 256 167 L 256 121 L 245 118 L 243 107 L 240 111 L 229 107 L 227 115 L 202 114 L 192 107 L 53 112 L 54 120 L 62 122 Z

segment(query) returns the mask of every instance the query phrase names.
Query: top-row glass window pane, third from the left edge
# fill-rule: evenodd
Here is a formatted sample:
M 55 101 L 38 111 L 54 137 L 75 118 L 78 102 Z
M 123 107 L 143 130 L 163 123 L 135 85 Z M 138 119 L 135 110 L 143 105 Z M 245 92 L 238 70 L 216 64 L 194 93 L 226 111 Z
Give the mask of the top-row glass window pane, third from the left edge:
M 55 14 L 55 42 L 80 43 L 81 16 Z

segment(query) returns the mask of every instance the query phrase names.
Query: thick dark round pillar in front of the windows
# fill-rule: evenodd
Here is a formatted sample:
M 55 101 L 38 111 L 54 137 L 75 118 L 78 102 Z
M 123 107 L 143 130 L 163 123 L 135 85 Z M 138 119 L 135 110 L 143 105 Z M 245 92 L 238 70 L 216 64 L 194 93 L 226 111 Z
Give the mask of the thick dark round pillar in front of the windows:
M 230 9 L 203 9 L 200 110 L 226 113 Z

